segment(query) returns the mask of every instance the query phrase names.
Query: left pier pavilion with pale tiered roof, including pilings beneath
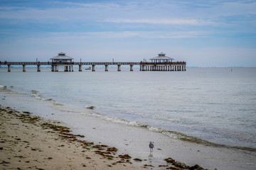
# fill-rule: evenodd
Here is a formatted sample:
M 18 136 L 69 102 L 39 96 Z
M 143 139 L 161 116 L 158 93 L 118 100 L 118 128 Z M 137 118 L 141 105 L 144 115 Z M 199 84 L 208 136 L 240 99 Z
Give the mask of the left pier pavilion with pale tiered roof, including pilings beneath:
M 58 72 L 58 67 L 64 67 L 64 72 L 73 72 L 73 57 L 69 57 L 65 52 L 58 53 L 57 56 L 50 58 L 52 60 L 52 72 Z

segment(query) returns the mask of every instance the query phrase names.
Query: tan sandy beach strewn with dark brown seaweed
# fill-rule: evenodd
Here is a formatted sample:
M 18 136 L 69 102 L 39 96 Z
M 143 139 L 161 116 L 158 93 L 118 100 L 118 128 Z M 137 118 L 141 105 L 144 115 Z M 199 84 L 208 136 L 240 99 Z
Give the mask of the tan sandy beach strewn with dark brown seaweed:
M 141 159 L 116 155 L 117 148 L 95 145 L 73 135 L 60 122 L 0 105 L 0 167 L 2 169 L 203 169 L 166 158 L 154 167 L 133 164 Z

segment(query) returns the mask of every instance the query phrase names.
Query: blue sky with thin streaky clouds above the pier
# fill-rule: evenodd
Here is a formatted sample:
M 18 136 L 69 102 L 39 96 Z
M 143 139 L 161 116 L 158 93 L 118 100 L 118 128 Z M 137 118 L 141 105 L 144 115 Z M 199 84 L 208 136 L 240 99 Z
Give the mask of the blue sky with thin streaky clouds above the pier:
M 140 62 L 164 52 L 188 67 L 256 67 L 253 0 L 0 0 L 0 61 Z

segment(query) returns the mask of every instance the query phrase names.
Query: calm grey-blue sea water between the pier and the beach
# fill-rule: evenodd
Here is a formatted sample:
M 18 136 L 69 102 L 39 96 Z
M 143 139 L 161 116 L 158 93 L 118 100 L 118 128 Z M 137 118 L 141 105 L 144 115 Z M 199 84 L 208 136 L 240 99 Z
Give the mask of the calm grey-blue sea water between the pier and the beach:
M 186 72 L 139 72 L 138 68 L 134 72 L 128 68 L 122 72 L 12 68 L 7 72 L 1 68 L 0 85 L 16 94 L 13 107 L 33 108 L 33 113 L 63 120 L 78 132 L 89 126 L 88 121 L 84 124 L 89 119 L 117 123 L 119 128 L 144 129 L 193 145 L 238 148 L 254 162 L 255 75 L 256 68 L 187 68 Z M 28 104 L 17 94 L 30 98 Z M 11 105 L 10 100 L 3 97 L 2 103 Z

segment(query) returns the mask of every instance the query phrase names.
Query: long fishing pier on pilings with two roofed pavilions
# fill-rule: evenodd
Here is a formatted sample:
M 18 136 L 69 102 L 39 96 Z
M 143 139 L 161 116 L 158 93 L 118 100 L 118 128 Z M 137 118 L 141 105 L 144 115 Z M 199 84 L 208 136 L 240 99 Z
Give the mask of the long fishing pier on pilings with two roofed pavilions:
M 74 72 L 73 66 L 78 65 L 78 71 L 82 72 L 82 66 L 92 67 L 95 72 L 96 65 L 104 65 L 105 72 L 108 72 L 109 65 L 117 65 L 117 71 L 121 72 L 122 65 L 129 65 L 130 71 L 133 71 L 134 65 L 140 66 L 140 71 L 186 71 L 186 62 L 172 62 L 171 57 L 166 57 L 163 52 L 158 57 L 154 57 L 151 62 L 73 62 L 72 57 L 68 57 L 64 52 L 58 53 L 57 56 L 50 58 L 52 62 L 0 62 L 0 65 L 7 65 L 8 72 L 11 72 L 12 65 L 22 65 L 23 72 L 26 72 L 26 65 L 36 65 L 37 72 L 41 72 L 41 66 L 51 66 L 52 72 L 58 72 L 59 67 L 64 67 L 64 72 Z

